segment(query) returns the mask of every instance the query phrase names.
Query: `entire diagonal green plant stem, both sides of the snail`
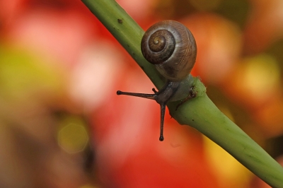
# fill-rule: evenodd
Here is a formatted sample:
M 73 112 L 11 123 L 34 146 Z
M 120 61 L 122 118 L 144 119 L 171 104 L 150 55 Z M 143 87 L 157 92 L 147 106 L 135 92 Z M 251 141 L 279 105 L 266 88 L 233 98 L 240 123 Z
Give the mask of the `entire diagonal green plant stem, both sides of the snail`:
M 113 0 L 82 0 L 105 25 L 127 52 L 141 66 L 159 89 L 163 80 L 141 54 L 140 41 L 144 34 L 137 23 Z M 207 97 L 198 78 L 193 83 L 197 97 L 175 110 L 178 102 L 168 105 L 172 117 L 180 124 L 190 125 L 224 148 L 240 163 L 272 187 L 283 187 L 283 168 L 258 143 L 226 117 Z

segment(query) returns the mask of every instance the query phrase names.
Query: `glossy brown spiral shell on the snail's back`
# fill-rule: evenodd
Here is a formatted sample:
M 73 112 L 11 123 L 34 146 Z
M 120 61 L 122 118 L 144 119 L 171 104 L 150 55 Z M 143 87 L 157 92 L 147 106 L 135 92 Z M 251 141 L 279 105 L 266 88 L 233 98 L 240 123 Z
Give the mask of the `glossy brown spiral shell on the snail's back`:
M 163 20 L 146 30 L 141 39 L 141 52 L 169 81 L 181 81 L 195 64 L 197 45 L 185 25 Z

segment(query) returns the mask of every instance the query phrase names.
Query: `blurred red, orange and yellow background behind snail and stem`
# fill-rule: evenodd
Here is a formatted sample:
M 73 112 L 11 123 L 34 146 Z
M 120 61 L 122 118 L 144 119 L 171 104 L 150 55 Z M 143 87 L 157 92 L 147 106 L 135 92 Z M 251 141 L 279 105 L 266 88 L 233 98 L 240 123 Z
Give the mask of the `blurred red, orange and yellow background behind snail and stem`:
M 282 0 L 118 3 L 144 30 L 185 24 L 192 75 L 283 162 Z M 269 187 L 168 112 L 158 141 L 156 102 L 116 95 L 153 87 L 81 1 L 0 1 L 0 187 Z

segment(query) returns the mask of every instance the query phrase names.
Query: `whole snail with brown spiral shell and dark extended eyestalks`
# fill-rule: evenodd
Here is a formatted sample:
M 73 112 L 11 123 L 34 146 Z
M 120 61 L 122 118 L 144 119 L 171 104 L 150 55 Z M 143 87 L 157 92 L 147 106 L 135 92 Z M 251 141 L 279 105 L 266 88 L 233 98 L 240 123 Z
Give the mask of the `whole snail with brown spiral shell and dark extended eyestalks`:
M 161 106 L 159 141 L 163 141 L 163 122 L 166 104 L 170 101 L 195 97 L 192 93 L 190 71 L 195 65 L 197 45 L 185 25 L 174 20 L 163 20 L 152 25 L 141 39 L 141 53 L 166 78 L 161 90 L 154 94 L 128 93 L 117 90 L 117 95 L 131 95 L 156 100 Z

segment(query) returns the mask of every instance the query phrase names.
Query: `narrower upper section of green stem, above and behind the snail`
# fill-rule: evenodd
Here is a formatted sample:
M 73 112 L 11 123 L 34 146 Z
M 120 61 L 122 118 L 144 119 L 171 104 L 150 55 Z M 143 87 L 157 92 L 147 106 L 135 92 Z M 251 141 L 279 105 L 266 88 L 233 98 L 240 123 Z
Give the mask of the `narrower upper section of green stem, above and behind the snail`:
M 157 76 L 158 71 L 154 65 L 149 64 L 141 54 L 141 37 L 144 30 L 126 13 L 126 11 L 113 0 L 93 0 L 84 1 L 91 12 L 100 20 L 118 42 L 129 52 L 132 58 L 139 62 L 139 66 L 144 70 L 157 88 L 163 86 L 162 79 Z

